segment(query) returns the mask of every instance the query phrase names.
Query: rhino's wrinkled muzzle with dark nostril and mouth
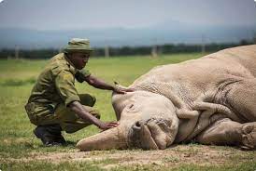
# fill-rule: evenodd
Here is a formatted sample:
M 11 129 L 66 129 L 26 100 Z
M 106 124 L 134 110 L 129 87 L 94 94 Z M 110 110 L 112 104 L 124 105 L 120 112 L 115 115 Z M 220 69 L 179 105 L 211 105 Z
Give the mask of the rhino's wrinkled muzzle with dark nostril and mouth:
M 170 146 L 176 136 L 172 122 L 163 118 L 137 121 L 128 132 L 128 147 L 159 150 Z

